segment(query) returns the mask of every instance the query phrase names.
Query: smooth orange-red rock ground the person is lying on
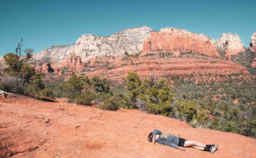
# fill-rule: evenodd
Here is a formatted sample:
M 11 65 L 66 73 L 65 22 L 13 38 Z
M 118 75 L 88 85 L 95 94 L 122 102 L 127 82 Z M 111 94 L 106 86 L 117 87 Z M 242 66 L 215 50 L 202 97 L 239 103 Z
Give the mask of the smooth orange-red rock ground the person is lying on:
M 136 110 L 102 111 L 58 100 L 0 99 L 0 157 L 256 157 L 256 140 L 192 128 L 185 122 Z M 188 140 L 218 143 L 215 154 L 154 145 L 154 128 Z

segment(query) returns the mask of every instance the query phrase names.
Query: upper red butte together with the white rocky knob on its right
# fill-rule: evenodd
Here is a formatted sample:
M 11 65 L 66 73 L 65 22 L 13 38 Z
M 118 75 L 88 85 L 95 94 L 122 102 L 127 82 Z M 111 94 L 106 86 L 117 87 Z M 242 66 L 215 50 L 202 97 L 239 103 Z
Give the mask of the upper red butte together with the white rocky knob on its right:
M 150 37 L 143 42 L 143 47 L 143 54 L 165 51 L 178 55 L 180 52 L 195 52 L 222 56 L 229 61 L 231 55 L 245 52 L 245 47 L 236 33 L 223 33 L 221 39 L 215 40 L 204 34 L 169 27 L 162 28 L 160 32 L 150 32 Z

